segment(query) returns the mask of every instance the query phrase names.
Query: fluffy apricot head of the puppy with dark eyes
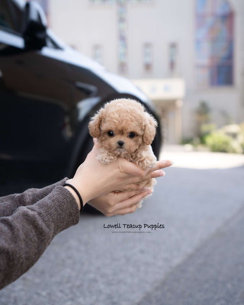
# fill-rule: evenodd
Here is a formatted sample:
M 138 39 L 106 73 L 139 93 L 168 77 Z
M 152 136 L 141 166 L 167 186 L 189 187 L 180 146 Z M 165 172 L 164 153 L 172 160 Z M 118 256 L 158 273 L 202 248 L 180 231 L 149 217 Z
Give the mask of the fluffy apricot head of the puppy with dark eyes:
M 111 101 L 92 118 L 88 128 L 105 149 L 116 156 L 131 155 L 142 145 L 150 145 L 157 122 L 144 107 L 131 99 Z

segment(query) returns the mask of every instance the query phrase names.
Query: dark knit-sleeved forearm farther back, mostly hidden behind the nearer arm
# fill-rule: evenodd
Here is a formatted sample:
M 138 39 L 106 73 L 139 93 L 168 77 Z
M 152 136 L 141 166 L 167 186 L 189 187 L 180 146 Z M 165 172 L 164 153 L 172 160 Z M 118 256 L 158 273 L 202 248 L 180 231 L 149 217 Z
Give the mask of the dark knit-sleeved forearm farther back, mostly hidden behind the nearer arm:
M 21 194 L 0 197 L 0 217 L 10 216 L 20 206 L 33 205 L 46 197 L 57 186 L 63 186 L 68 178 L 42 189 L 28 189 Z

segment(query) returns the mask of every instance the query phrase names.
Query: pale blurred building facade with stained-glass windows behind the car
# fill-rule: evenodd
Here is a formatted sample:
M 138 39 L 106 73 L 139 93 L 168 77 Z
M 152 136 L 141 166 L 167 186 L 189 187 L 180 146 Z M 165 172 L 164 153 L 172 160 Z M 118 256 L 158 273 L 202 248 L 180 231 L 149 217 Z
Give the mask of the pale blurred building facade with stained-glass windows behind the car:
M 219 127 L 244 120 L 243 0 L 49 0 L 48 19 L 67 44 L 144 90 L 168 143 L 194 137 L 202 101 Z

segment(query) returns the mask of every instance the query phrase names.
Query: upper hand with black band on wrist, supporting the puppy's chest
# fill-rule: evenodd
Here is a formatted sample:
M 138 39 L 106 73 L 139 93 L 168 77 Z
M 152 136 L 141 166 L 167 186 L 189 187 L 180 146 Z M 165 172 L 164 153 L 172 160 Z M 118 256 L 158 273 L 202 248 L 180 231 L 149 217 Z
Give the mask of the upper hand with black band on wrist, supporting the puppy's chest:
M 171 165 L 171 161 L 158 161 L 148 171 L 124 158 L 118 158 L 111 164 L 102 164 L 96 159 L 98 149 L 99 144 L 95 141 L 92 151 L 78 167 L 74 177 L 67 181 L 79 191 L 84 204 L 112 191 L 128 189 L 128 186 L 139 190 L 139 181 L 164 176 L 165 172 L 161 169 Z

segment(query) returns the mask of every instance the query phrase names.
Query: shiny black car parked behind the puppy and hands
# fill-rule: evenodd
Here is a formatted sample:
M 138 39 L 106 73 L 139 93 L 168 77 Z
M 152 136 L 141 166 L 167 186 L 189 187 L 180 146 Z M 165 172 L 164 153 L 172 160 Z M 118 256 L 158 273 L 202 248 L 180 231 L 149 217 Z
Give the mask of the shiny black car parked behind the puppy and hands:
M 9 176 L 32 185 L 71 177 L 93 146 L 88 121 L 107 101 L 136 99 L 157 118 L 135 85 L 60 42 L 46 24 L 38 3 L 1 0 L 1 184 Z M 158 157 L 160 127 L 152 146 Z

